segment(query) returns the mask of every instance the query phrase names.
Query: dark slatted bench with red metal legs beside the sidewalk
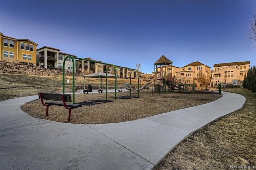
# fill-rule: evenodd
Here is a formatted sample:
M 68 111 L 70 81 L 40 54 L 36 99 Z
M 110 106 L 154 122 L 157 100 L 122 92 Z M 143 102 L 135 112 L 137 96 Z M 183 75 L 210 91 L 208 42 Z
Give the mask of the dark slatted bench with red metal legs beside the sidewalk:
M 82 107 L 82 105 L 78 104 L 71 104 L 66 102 L 71 102 L 71 96 L 69 94 L 59 94 L 59 93 L 38 93 L 39 99 L 41 99 L 41 103 L 46 106 L 46 116 L 48 116 L 48 109 L 49 106 L 64 106 L 66 109 L 69 110 L 68 113 L 68 121 L 70 121 L 71 116 L 71 109 Z M 52 100 L 44 102 L 44 100 Z M 62 101 L 60 102 L 53 102 L 53 101 Z

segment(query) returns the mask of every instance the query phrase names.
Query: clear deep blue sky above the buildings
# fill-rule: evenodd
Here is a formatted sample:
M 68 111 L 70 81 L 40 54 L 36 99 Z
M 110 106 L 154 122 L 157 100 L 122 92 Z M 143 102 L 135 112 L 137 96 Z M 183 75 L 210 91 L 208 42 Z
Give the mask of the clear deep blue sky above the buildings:
M 246 38 L 256 1 L 1 0 L 0 32 L 79 58 L 154 71 L 165 55 L 176 67 L 250 61 Z

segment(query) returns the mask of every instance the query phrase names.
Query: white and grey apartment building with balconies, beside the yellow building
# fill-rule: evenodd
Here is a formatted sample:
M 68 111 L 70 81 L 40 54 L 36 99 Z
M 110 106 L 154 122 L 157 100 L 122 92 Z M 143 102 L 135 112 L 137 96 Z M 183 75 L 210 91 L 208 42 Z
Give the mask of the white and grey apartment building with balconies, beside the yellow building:
M 65 69 L 65 71 L 72 71 L 73 70 L 73 63 L 72 59 L 68 58 L 65 61 L 65 65 L 63 66 L 63 61 L 64 59 L 70 55 L 72 57 L 76 57 L 75 55 L 68 54 L 68 53 L 63 53 L 60 52 L 60 49 L 56 49 L 53 47 L 47 47 L 44 46 L 42 48 L 39 48 L 36 50 L 37 51 L 37 57 L 36 57 L 36 63 L 40 67 L 43 68 L 60 68 L 60 69 Z M 76 71 L 76 67 L 74 68 Z

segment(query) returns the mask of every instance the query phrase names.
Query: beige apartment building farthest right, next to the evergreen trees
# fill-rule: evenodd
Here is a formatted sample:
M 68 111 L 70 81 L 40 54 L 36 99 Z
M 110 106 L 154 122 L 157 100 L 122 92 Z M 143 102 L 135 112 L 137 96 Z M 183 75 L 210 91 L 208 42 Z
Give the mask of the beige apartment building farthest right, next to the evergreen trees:
M 250 61 L 214 64 L 210 86 L 240 85 L 250 69 Z

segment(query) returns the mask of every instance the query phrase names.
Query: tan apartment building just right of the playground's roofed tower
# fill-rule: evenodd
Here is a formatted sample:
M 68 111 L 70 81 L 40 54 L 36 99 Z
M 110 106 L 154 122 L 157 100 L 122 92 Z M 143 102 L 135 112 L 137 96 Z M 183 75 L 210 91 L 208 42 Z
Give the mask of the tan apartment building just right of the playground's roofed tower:
M 200 63 L 199 61 L 190 63 L 180 68 L 177 72 L 177 77 L 181 83 L 200 83 L 199 78 L 205 77 L 210 82 L 211 67 Z

